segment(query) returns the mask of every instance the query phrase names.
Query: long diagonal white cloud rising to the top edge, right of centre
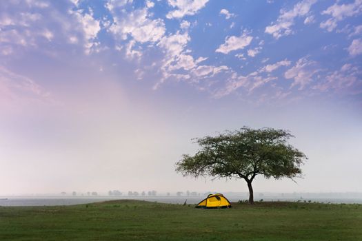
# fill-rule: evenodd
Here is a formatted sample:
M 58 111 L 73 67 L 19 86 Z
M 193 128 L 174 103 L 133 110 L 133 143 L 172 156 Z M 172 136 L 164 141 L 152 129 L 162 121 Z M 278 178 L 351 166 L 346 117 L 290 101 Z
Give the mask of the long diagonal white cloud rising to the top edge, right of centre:
M 292 10 L 281 10 L 281 14 L 276 23 L 272 23 L 265 28 L 265 33 L 272 34 L 275 39 L 279 39 L 281 36 L 292 34 L 292 25 L 294 25 L 294 19 L 296 17 L 303 17 L 308 15 L 312 5 L 316 3 L 316 0 L 303 0 L 296 3 Z

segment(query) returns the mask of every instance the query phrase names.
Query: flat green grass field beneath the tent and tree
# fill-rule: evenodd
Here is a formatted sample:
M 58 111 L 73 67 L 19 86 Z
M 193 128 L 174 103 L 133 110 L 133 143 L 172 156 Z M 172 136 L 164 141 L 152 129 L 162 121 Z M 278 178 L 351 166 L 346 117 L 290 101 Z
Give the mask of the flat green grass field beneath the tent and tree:
M 362 205 L 232 205 L 195 209 L 119 200 L 0 207 L 0 240 L 362 240 Z

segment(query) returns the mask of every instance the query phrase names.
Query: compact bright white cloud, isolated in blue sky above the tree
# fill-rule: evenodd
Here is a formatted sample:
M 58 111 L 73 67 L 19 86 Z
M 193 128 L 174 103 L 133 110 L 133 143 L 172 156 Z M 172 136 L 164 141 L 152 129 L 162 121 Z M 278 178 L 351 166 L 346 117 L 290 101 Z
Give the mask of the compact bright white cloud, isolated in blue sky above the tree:
M 221 44 L 215 52 L 222 54 L 228 54 L 234 50 L 242 50 L 246 46 L 250 45 L 252 36 L 248 36 L 247 32 L 243 32 L 241 36 L 227 36 L 225 43 Z

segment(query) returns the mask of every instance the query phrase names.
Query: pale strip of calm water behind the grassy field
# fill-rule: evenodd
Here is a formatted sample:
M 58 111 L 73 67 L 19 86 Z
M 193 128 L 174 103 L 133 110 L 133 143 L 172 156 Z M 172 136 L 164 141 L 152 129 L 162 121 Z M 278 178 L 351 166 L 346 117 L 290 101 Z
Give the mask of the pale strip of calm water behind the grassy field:
M 244 193 L 237 196 L 226 195 L 230 202 L 245 200 L 248 196 Z M 150 202 L 163 202 L 173 204 L 197 204 L 205 196 L 3 196 L 0 197 L 0 206 L 57 206 L 57 205 L 80 205 L 92 202 L 103 202 L 107 200 L 145 200 Z M 255 201 L 289 201 L 289 202 L 331 202 L 331 203 L 359 203 L 362 204 L 362 196 L 320 195 L 304 194 L 301 196 L 257 196 Z

